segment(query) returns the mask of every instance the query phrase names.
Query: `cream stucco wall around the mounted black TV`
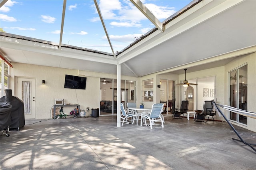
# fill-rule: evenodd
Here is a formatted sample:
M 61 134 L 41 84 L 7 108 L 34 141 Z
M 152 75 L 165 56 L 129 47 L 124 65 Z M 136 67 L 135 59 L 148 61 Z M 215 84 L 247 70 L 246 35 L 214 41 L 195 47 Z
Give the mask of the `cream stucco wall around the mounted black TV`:
M 79 104 L 80 109 L 99 107 L 99 78 L 78 75 L 78 70 L 46 67 L 40 65 L 12 63 L 10 82 L 16 77 L 36 79 L 36 119 L 49 119 L 54 99 L 64 99 L 67 104 Z M 65 75 L 87 77 L 86 89 L 64 89 Z M 14 77 L 15 76 L 15 77 Z M 42 85 L 42 80 L 45 84 Z M 13 95 L 16 95 L 14 83 L 10 83 Z M 64 107 L 64 113 L 70 113 L 74 107 Z

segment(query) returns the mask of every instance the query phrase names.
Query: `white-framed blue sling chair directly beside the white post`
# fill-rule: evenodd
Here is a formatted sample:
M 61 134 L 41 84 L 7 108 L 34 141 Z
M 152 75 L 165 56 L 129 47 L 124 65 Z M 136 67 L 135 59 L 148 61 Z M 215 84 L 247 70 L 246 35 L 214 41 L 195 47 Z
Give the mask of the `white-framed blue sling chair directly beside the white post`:
M 124 110 L 124 105 L 123 103 L 121 103 L 121 119 L 123 119 L 123 122 L 122 122 L 122 126 L 124 124 L 133 124 L 135 119 L 136 119 L 136 124 L 138 125 L 138 117 L 137 117 L 137 112 L 136 111 L 126 111 Z M 131 118 L 129 120 L 129 118 Z M 126 123 L 124 123 L 126 122 Z

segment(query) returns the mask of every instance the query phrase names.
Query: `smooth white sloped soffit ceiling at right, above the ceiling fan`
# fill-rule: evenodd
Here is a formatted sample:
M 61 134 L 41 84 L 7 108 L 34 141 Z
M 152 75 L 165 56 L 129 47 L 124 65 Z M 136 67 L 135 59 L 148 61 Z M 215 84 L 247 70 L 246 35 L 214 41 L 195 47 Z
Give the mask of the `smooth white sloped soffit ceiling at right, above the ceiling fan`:
M 164 43 L 156 44 L 126 64 L 135 73 L 147 75 L 149 69 L 154 73 L 255 45 L 255 4 L 253 1 L 242 2 Z M 147 69 L 141 67 L 141 63 Z

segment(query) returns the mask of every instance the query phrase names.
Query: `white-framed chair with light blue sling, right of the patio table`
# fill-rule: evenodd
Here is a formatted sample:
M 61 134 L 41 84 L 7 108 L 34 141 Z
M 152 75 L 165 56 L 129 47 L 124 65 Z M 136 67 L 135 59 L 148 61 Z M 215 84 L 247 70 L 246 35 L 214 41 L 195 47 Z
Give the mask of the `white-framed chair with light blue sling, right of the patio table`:
M 146 121 L 148 120 L 150 123 L 150 128 L 152 129 L 152 125 L 159 125 L 156 122 L 161 122 L 162 128 L 164 127 L 164 121 L 162 118 L 162 110 L 164 107 L 164 103 L 156 103 L 152 105 L 152 109 L 150 112 L 142 112 L 140 119 L 140 126 L 142 126 L 142 119 L 145 119 L 145 125 L 147 125 Z

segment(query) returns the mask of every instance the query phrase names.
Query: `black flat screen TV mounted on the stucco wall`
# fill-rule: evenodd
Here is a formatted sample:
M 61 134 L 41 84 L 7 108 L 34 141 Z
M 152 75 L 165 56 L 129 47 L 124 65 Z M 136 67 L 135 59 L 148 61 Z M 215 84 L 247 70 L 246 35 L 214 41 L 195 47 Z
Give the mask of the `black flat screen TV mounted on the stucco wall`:
M 64 88 L 85 89 L 85 87 L 86 87 L 86 77 L 79 77 L 79 76 L 66 74 Z

